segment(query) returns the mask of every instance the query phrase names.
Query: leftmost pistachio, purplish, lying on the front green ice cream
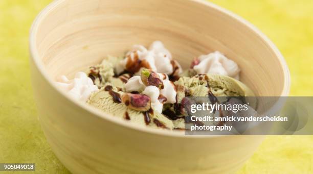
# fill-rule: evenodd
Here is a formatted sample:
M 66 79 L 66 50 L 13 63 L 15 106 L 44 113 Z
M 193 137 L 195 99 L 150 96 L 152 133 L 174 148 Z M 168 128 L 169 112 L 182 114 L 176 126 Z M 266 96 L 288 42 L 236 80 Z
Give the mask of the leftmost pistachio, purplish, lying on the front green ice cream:
M 147 111 L 151 108 L 151 99 L 145 94 L 124 93 L 122 102 L 129 108 L 136 111 Z

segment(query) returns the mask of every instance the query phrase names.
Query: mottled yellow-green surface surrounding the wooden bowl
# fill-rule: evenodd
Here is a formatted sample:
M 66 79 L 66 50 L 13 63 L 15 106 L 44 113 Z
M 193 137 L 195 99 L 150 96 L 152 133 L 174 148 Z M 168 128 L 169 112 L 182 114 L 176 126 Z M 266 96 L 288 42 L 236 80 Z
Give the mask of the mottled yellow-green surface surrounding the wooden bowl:
M 51 0 L 0 0 L 0 163 L 36 163 L 37 173 L 67 173 L 37 120 L 28 33 Z M 313 1 L 214 0 L 252 22 L 278 46 L 292 76 L 291 95 L 313 94 Z M 312 173 L 313 136 L 269 136 L 238 173 Z

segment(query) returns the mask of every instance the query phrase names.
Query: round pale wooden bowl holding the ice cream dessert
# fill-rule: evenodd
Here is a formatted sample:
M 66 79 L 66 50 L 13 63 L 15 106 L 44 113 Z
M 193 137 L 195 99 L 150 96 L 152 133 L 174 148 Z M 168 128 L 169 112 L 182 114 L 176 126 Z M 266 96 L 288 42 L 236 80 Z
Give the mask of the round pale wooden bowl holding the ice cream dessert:
M 220 51 L 260 96 L 286 96 L 289 71 L 276 46 L 247 21 L 196 0 L 56 0 L 34 21 L 31 71 L 39 120 L 52 150 L 73 173 L 236 171 L 263 136 L 185 136 L 117 119 L 56 87 L 106 55 L 161 40 L 183 67 Z

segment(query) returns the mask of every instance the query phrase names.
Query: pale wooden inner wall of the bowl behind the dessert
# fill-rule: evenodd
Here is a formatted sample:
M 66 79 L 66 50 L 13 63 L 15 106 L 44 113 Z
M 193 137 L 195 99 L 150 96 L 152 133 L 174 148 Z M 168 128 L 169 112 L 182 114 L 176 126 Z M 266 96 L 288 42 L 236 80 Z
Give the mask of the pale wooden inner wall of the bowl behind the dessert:
M 188 68 L 194 57 L 220 51 L 240 67 L 241 81 L 260 96 L 287 95 L 288 69 L 262 34 L 244 20 L 199 1 L 62 0 L 41 15 L 35 50 L 56 80 L 123 56 L 133 44 L 161 40 Z

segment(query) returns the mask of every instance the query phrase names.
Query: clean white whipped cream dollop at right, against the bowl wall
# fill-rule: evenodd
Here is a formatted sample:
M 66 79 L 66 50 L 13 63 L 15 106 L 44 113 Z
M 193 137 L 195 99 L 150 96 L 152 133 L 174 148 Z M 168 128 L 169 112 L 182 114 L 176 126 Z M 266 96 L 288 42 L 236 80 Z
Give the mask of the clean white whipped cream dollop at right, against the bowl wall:
M 197 60 L 199 63 L 193 66 L 197 73 L 215 73 L 239 80 L 238 65 L 217 51 L 201 55 Z

